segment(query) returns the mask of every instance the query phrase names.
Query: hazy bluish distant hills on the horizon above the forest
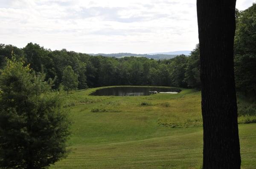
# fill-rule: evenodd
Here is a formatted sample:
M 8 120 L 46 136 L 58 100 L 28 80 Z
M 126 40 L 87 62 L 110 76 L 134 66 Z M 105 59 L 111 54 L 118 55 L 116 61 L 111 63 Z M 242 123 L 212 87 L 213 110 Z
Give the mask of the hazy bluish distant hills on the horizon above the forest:
M 190 52 L 190 51 L 189 51 Z M 89 54 L 92 56 L 107 56 L 107 57 L 117 57 L 117 58 L 122 58 L 125 56 L 135 56 L 135 57 L 146 57 L 148 59 L 172 59 L 175 56 L 179 54 L 131 54 L 131 53 L 118 53 L 118 54 Z

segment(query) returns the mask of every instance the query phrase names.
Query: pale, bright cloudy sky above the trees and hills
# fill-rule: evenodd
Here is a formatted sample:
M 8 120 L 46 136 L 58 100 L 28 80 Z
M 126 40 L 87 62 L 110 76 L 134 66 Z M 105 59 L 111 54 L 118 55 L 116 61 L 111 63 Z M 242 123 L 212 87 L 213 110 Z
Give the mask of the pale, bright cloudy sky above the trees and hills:
M 196 0 L 0 0 L 0 43 L 29 42 L 87 54 L 192 50 Z

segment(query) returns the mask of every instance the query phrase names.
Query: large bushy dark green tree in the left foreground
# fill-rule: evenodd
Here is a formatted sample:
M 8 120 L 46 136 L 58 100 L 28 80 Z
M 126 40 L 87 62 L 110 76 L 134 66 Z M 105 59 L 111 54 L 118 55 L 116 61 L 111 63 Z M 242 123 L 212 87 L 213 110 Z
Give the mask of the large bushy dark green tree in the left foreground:
M 0 167 L 41 169 L 65 157 L 70 120 L 44 79 L 23 61 L 1 70 Z

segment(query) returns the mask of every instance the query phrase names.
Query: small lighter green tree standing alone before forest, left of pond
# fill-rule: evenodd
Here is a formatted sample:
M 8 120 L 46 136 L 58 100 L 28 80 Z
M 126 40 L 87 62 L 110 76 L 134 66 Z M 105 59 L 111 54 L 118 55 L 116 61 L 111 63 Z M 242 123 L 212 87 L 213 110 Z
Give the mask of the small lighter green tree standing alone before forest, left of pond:
M 69 90 L 77 89 L 78 76 L 76 75 L 71 66 L 67 66 L 63 70 L 62 85 L 64 85 L 64 90 L 67 91 L 67 94 Z

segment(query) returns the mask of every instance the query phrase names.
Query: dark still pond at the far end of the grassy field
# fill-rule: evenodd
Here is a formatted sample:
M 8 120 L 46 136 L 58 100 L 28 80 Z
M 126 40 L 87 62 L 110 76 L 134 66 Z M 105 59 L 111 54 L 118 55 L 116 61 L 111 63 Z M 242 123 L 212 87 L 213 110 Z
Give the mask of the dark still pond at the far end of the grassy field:
M 111 87 L 96 90 L 92 96 L 148 96 L 156 93 L 176 94 L 181 90 L 164 87 Z

